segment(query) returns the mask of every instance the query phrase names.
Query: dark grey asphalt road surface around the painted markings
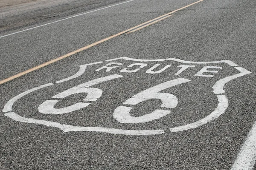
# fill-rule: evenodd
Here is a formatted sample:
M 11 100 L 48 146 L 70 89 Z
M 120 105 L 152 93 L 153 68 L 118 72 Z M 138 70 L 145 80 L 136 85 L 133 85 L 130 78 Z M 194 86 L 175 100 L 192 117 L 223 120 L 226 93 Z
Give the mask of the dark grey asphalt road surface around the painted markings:
M 114 2 L 114 1 L 113 1 Z M 117 1 L 116 1 L 117 2 Z M 50 59 L 154 19 L 193 0 L 134 0 L 70 20 L 0 38 L 0 79 L 5 79 Z M 85 11 L 84 11 L 85 12 Z M 64 16 L 64 15 L 63 15 Z M 172 133 L 170 127 L 192 123 L 215 110 L 218 101 L 212 85 L 237 74 L 224 63 L 200 64 L 174 74 L 182 63 L 148 63 L 137 73 L 120 73 L 134 63 L 122 62 L 111 72 L 95 70 L 107 62 L 88 66 L 81 77 L 35 91 L 15 102 L 20 116 L 67 125 L 113 127 L 131 130 L 164 129 L 160 135 L 131 136 L 98 132 L 67 132 L 45 125 L 17 122 L 0 113 L 0 168 L 3 170 L 230 170 L 248 132 L 256 121 L 256 1 L 204 0 L 173 16 L 131 34 L 123 34 L 71 57 L 0 85 L 0 108 L 12 97 L 31 88 L 75 74 L 80 65 L 117 57 L 136 59 L 178 58 L 187 61 L 230 60 L 251 71 L 225 86 L 229 107 L 217 119 L 195 129 Z M 53 20 L 52 20 L 53 21 Z M 24 29 L 24 28 L 22 28 Z M 10 34 L 15 30 L 5 32 Z M 0 34 L 4 35 L 4 34 Z M 146 74 L 156 63 L 172 64 L 161 74 Z M 193 65 L 193 64 L 189 64 Z M 204 66 L 222 66 L 214 77 L 194 77 Z M 102 97 L 90 105 L 63 115 L 44 115 L 38 106 L 52 96 L 92 79 L 111 74 L 123 77 L 93 87 Z M 177 108 L 169 115 L 140 124 L 122 124 L 113 111 L 135 94 L 175 78 L 191 82 L 163 93 L 177 96 Z M 81 102 L 73 95 L 56 108 Z M 133 116 L 151 113 L 161 101 L 151 99 L 134 107 Z M 256 167 L 254 167 L 254 170 Z

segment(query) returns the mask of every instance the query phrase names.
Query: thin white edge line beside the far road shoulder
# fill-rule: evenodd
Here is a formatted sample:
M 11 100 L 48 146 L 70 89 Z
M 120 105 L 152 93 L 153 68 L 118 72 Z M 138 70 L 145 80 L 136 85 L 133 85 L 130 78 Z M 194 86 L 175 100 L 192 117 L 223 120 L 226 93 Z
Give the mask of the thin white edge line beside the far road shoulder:
M 54 21 L 54 22 L 51 22 L 51 23 L 43 24 L 41 26 L 36 26 L 36 27 L 24 29 L 22 31 L 17 31 L 17 32 L 14 32 L 14 33 L 11 33 L 11 34 L 0 36 L 0 38 L 7 37 L 7 36 L 13 35 L 13 34 L 18 34 L 18 33 L 24 32 L 24 31 L 29 31 L 29 30 L 32 30 L 32 29 L 35 29 L 35 28 L 39 28 L 39 27 L 42 27 L 42 26 L 47 26 L 47 25 L 50 25 L 50 24 L 53 24 L 53 23 L 58 23 L 58 22 L 61 22 L 61 21 L 64 21 L 64 20 L 68 20 L 70 18 L 79 17 L 79 16 L 84 15 L 84 14 L 89 14 L 89 13 L 92 13 L 92 12 L 95 12 L 95 11 L 99 11 L 99 10 L 102 10 L 102 9 L 110 8 L 110 7 L 113 7 L 113 6 L 118 6 L 118 5 L 121 5 L 121 4 L 124 4 L 124 3 L 128 3 L 128 2 L 131 2 L 131 1 L 134 1 L 134 0 L 128 0 L 128 1 L 125 1 L 123 3 L 118 3 L 118 4 L 115 4 L 115 5 L 112 5 L 112 6 L 107 6 L 107 7 L 104 7 L 104 8 L 96 9 L 96 10 L 85 12 L 85 13 L 78 14 L 78 15 L 74 15 L 72 17 L 67 17 L 67 18 L 64 18 L 64 19 L 61 19 L 61 20 L 57 20 L 57 21 Z

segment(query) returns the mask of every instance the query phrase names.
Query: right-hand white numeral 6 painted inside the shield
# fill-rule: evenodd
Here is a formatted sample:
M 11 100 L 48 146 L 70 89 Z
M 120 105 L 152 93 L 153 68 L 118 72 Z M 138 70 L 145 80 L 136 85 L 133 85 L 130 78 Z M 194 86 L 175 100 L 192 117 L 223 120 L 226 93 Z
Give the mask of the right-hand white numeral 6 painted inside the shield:
M 189 79 L 178 78 L 178 79 L 170 80 L 167 82 L 163 82 L 159 85 L 148 88 L 145 91 L 142 91 L 132 96 L 130 99 L 127 99 L 123 104 L 137 105 L 140 102 L 143 102 L 145 100 L 160 99 L 162 101 L 162 104 L 160 107 L 175 108 L 178 104 L 177 97 L 174 96 L 173 94 L 160 93 L 160 91 L 163 91 L 167 88 L 173 87 L 175 85 L 180 85 L 182 83 L 189 82 L 189 81 L 190 81 Z M 155 119 L 159 119 L 171 113 L 171 111 L 166 111 L 166 110 L 155 110 L 152 113 L 139 116 L 139 117 L 134 117 L 130 115 L 131 109 L 132 109 L 131 107 L 120 106 L 116 108 L 116 110 L 114 111 L 113 118 L 120 123 L 144 123 L 144 122 L 149 122 Z

